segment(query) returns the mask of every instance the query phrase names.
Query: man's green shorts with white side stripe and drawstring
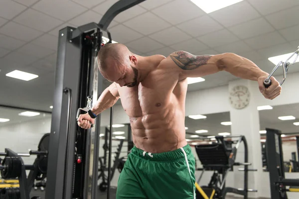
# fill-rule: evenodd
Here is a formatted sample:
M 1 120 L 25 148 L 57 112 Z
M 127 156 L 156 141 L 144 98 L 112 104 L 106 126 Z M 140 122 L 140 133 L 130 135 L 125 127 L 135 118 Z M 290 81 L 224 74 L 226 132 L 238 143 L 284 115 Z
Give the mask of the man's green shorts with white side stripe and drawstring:
M 189 145 L 154 154 L 133 147 L 119 177 L 116 199 L 195 199 L 194 173 Z

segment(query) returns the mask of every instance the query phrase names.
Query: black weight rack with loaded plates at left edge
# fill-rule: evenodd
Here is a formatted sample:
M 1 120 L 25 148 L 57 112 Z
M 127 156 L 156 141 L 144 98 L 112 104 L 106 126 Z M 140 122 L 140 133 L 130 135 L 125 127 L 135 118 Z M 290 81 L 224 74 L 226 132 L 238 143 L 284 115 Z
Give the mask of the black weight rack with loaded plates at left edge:
M 48 147 L 50 134 L 42 136 L 37 151 L 26 153 L 15 153 L 11 149 L 5 148 L 1 156 L 5 156 L 1 166 L 1 177 L 3 179 L 18 179 L 19 188 L 4 188 L 0 191 L 0 199 L 30 199 L 29 195 L 35 180 L 45 179 L 48 164 Z M 21 157 L 37 155 L 33 165 L 24 165 Z M 26 176 L 26 170 L 30 170 Z M 38 198 L 36 198 L 38 199 Z

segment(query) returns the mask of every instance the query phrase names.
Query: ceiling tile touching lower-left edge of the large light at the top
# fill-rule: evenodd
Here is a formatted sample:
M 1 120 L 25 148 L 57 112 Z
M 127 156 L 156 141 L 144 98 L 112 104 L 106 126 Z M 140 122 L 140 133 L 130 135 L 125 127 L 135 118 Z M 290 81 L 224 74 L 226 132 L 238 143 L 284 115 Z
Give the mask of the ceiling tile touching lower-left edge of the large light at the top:
M 153 9 L 152 12 L 173 25 L 204 14 L 204 11 L 190 0 L 174 0 Z

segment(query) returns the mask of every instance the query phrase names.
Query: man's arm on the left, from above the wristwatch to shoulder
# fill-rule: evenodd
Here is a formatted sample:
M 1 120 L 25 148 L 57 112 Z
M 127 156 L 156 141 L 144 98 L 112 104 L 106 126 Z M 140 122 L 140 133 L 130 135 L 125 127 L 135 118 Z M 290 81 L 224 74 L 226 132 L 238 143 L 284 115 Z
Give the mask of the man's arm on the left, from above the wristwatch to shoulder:
M 96 104 L 91 108 L 91 111 L 95 115 L 98 115 L 104 110 L 112 107 L 118 99 L 120 99 L 120 95 L 117 85 L 114 82 L 103 91 Z

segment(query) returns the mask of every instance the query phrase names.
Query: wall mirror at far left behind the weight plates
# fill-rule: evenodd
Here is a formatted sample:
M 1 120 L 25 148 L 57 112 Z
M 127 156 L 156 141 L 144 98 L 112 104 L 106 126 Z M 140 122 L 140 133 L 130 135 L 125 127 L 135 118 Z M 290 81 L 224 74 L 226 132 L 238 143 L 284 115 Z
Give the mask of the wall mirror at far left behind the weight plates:
M 51 112 L 0 106 L 0 152 L 5 148 L 17 153 L 37 150 L 42 136 L 51 130 L 51 116 Z M 32 164 L 35 158 L 24 157 L 23 161 Z

